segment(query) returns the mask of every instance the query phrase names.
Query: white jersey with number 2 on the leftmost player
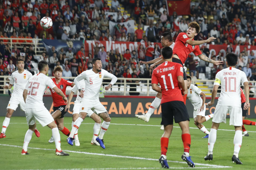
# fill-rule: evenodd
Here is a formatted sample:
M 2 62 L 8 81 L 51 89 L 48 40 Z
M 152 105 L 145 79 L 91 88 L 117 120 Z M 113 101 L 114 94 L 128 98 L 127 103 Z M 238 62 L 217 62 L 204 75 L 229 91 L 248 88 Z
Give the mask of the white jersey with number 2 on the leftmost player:
M 23 73 L 19 73 L 18 70 L 14 71 L 10 78 L 10 84 L 14 85 L 11 95 L 23 99 L 23 91 L 30 77 L 32 77 L 32 74 L 27 70 L 24 70 Z

